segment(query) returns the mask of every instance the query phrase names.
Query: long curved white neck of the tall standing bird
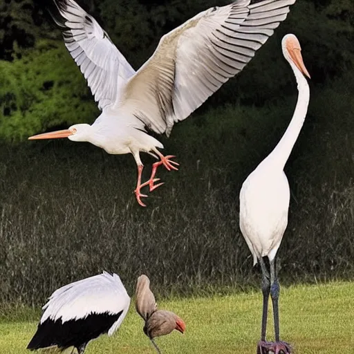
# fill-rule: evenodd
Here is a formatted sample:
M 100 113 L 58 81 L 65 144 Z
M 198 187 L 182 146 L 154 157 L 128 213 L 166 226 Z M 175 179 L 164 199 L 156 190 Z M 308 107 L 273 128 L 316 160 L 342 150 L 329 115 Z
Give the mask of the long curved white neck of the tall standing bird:
M 281 167 L 281 170 L 283 170 L 292 151 L 292 147 L 294 147 L 297 137 L 299 136 L 301 127 L 304 124 L 308 109 L 308 102 L 310 100 L 310 88 L 308 87 L 306 78 L 301 74 L 295 65 L 291 64 L 291 66 L 295 73 L 297 89 L 299 90 L 295 112 L 294 115 L 292 115 L 292 120 L 288 126 L 288 129 L 286 129 L 283 137 L 268 156 L 269 160 L 272 160 L 272 162 L 276 163 L 277 166 Z

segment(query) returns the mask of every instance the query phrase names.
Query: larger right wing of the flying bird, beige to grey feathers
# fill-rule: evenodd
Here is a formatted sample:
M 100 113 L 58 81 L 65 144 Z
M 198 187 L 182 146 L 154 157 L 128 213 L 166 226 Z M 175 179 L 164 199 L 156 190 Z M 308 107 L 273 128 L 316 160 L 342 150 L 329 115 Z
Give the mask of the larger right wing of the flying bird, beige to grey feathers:
M 168 136 L 175 122 L 250 62 L 293 3 L 236 0 L 189 19 L 160 39 L 152 57 L 124 86 L 120 109 Z

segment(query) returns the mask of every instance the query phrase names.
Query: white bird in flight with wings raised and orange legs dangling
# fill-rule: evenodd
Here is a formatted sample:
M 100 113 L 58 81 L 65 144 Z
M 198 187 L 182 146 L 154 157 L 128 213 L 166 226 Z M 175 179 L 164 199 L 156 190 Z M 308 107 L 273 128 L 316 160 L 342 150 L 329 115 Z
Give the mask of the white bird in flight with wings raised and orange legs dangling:
M 175 122 L 184 120 L 220 86 L 239 73 L 286 19 L 295 0 L 236 0 L 209 8 L 167 33 L 151 58 L 136 72 L 93 17 L 73 0 L 54 0 L 66 48 L 90 86 L 101 115 L 92 125 L 42 133 L 29 139 L 69 138 L 91 142 L 107 153 L 132 153 L 138 166 L 135 194 L 158 182 L 156 169 L 178 169 L 174 156 L 163 156 L 163 145 L 148 130 L 169 136 Z M 140 151 L 160 161 L 142 183 Z

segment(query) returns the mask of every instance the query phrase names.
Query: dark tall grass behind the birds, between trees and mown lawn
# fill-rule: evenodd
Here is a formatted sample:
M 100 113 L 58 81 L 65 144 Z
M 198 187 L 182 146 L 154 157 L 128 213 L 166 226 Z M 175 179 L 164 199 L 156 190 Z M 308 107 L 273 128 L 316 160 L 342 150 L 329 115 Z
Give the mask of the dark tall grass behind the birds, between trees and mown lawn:
M 343 82 L 343 81 L 342 81 Z M 353 80 L 313 87 L 286 166 L 291 201 L 281 281 L 353 277 Z M 295 88 L 294 88 L 295 91 Z M 296 97 L 225 106 L 178 124 L 165 153 L 180 171 L 141 208 L 131 156 L 91 145 L 26 142 L 0 151 L 0 297 L 42 303 L 55 288 L 108 270 L 132 293 L 142 272 L 163 295 L 224 292 L 259 281 L 239 231 L 239 189 L 283 134 Z M 142 156 L 145 178 L 152 158 Z

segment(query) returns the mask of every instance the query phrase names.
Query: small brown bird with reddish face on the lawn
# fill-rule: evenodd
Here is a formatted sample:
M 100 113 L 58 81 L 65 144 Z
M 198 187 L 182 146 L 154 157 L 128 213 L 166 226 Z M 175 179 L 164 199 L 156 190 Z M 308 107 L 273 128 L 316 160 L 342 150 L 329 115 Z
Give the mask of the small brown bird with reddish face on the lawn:
M 150 290 L 150 280 L 145 274 L 140 275 L 136 283 L 136 311 L 145 321 L 143 328 L 145 335 L 149 337 L 159 354 L 160 349 L 153 338 L 168 335 L 174 329 L 180 333 L 185 332 L 183 319 L 171 311 L 157 309 L 155 297 Z

